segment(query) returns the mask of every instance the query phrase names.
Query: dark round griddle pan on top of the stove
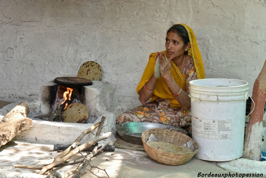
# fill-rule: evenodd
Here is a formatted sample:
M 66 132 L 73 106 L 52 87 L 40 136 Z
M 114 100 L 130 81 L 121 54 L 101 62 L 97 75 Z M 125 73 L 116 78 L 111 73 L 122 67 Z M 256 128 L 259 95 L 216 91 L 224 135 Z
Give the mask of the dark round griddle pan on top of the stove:
M 78 77 L 57 77 L 55 83 L 69 88 L 80 88 L 82 86 L 92 85 L 91 80 Z

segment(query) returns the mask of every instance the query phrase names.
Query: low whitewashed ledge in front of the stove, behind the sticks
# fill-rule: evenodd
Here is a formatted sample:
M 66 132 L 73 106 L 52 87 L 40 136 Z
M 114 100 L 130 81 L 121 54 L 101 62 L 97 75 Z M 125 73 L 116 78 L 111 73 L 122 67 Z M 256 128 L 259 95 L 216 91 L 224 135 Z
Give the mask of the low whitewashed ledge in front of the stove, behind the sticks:
M 111 132 L 115 126 L 115 115 L 110 112 L 104 112 L 102 114 L 106 117 L 106 120 L 103 124 L 102 133 Z M 94 123 L 101 121 L 102 115 L 97 118 Z M 74 140 L 83 132 L 88 129 L 92 124 L 79 124 L 79 123 L 65 123 L 65 122 L 49 122 L 49 121 L 40 121 L 33 120 L 33 126 L 27 131 L 21 132 L 12 141 L 23 141 L 25 143 L 34 143 L 34 144 L 72 144 Z M 93 130 L 95 134 L 97 128 Z M 81 143 L 94 138 L 95 135 L 92 133 L 87 134 L 82 140 Z M 107 143 L 111 141 L 111 138 L 103 140 L 100 144 Z

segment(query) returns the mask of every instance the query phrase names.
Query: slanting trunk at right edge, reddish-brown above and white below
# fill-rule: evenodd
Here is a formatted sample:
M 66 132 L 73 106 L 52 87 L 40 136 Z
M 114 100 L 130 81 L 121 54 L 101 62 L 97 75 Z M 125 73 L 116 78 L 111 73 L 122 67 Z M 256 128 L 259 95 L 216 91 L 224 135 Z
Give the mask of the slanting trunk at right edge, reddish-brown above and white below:
M 263 132 L 262 120 L 266 99 L 266 60 L 256 78 L 252 91 L 252 99 L 255 102 L 254 111 L 250 114 L 250 119 L 246 127 L 243 158 L 260 160 L 261 137 Z M 251 108 L 254 105 L 251 103 Z

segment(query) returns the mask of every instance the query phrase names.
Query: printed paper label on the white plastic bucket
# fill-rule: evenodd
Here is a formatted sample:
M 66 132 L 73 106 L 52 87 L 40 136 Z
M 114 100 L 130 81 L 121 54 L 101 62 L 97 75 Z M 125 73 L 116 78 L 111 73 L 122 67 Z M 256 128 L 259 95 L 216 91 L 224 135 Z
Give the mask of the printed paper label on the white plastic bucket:
M 192 135 L 207 139 L 231 139 L 232 120 L 191 118 Z

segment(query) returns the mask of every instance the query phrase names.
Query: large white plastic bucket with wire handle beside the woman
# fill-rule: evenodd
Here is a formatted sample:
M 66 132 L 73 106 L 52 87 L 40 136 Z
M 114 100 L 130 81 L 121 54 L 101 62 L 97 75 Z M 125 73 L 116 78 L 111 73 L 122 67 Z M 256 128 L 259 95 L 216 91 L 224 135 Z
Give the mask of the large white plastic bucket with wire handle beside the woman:
M 208 161 L 230 161 L 243 155 L 248 82 L 199 79 L 189 82 L 195 155 Z

